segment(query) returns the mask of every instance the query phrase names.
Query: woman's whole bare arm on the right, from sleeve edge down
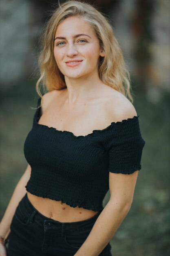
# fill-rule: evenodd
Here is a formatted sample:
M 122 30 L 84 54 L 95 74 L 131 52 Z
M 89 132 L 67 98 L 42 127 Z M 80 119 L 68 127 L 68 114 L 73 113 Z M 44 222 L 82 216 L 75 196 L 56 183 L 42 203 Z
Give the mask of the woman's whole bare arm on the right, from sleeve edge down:
M 137 174 L 109 173 L 110 199 L 75 256 L 98 256 L 106 247 L 130 210 Z

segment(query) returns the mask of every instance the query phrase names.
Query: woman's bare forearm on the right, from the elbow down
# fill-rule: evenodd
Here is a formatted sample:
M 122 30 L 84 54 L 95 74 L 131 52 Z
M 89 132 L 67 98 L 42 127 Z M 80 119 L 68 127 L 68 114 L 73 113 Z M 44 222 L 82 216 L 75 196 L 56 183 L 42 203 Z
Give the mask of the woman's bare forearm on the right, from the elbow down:
M 130 206 L 109 200 L 75 256 L 98 256 L 115 234 L 129 209 Z

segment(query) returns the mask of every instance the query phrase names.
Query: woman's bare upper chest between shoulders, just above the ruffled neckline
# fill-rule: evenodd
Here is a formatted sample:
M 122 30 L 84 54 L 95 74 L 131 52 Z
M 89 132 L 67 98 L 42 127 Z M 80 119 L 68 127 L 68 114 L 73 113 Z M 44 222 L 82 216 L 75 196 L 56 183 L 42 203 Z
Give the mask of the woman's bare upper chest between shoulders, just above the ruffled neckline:
M 100 104 L 82 104 L 74 108 L 51 105 L 43 111 L 39 110 L 38 124 L 53 127 L 59 131 L 68 131 L 76 137 L 91 134 L 93 130 L 102 130 L 110 125 L 107 110 L 103 102 Z

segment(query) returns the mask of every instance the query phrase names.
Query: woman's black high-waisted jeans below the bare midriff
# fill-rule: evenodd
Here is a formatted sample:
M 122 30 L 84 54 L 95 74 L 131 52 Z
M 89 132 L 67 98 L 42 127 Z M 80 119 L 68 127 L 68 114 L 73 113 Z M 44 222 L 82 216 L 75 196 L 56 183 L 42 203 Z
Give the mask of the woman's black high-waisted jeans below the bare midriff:
M 73 256 L 99 214 L 87 220 L 59 222 L 36 210 L 26 193 L 11 222 L 7 256 Z M 111 256 L 110 249 L 108 243 L 99 256 Z

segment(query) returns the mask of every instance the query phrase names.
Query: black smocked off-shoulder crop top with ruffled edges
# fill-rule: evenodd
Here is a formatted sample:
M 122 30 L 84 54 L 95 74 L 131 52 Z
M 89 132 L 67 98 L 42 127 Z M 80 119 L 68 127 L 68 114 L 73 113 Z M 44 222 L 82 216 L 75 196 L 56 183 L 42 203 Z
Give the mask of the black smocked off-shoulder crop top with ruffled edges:
M 40 101 L 39 97 L 37 107 Z M 109 172 L 130 174 L 141 169 L 145 141 L 138 118 L 137 114 L 103 130 L 75 136 L 38 124 L 38 108 L 24 142 L 24 155 L 31 166 L 26 191 L 71 207 L 101 211 Z

